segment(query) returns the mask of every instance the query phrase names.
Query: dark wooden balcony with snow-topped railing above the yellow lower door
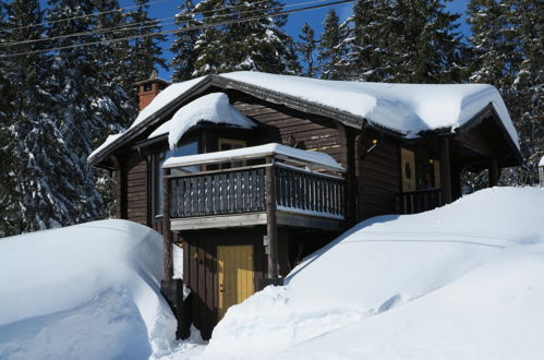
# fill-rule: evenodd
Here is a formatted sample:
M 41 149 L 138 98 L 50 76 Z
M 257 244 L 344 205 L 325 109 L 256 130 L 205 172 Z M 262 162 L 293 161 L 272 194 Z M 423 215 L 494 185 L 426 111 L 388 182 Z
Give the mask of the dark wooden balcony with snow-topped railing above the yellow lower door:
M 166 175 L 171 230 L 265 225 L 271 212 L 277 225 L 340 229 L 343 179 L 334 172 L 341 168 L 281 154 L 233 157 L 231 152 L 215 159 L 197 155 L 177 167 L 215 169 Z M 244 166 L 221 169 L 226 163 Z

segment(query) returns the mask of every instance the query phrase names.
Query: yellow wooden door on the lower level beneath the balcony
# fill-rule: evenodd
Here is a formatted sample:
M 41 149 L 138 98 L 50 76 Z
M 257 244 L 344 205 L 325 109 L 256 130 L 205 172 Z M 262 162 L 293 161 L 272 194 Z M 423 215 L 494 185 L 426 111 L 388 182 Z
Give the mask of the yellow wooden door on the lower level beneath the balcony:
M 227 309 L 255 292 L 253 279 L 253 245 L 217 247 L 219 320 Z

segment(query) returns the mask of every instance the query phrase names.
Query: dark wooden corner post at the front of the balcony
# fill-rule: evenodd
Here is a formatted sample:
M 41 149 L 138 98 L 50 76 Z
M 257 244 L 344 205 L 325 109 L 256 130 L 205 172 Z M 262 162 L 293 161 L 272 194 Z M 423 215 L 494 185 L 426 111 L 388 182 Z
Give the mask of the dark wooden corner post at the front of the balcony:
M 278 264 L 278 223 L 276 218 L 276 173 L 274 159 L 266 158 L 265 191 L 266 191 L 266 232 L 268 235 L 268 277 L 277 278 L 279 275 Z

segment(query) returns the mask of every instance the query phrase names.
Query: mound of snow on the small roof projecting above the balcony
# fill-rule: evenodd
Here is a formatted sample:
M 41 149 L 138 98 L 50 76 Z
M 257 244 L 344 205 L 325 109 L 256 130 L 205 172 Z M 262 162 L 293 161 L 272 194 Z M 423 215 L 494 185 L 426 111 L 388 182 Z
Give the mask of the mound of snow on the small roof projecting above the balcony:
M 213 93 L 181 107 L 172 119 L 158 127 L 149 139 L 168 134 L 170 148 L 174 148 L 181 136 L 201 121 L 226 123 L 242 129 L 256 127 L 255 122 L 230 105 L 227 94 Z

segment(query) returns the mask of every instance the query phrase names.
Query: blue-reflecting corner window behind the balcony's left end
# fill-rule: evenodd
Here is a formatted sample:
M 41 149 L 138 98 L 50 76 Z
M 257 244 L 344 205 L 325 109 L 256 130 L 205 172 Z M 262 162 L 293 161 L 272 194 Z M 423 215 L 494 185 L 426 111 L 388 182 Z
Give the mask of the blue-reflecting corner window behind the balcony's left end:
M 198 142 L 196 140 L 182 143 L 174 149 L 161 152 L 154 156 L 154 171 L 153 171 L 153 215 L 162 216 L 165 208 L 165 177 L 162 164 L 172 156 L 186 156 L 198 154 Z M 185 168 L 186 171 L 194 171 L 194 168 Z

